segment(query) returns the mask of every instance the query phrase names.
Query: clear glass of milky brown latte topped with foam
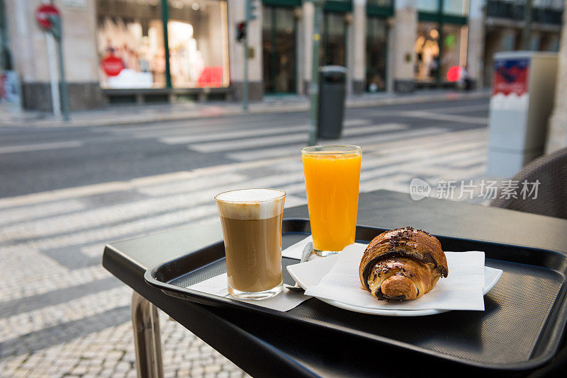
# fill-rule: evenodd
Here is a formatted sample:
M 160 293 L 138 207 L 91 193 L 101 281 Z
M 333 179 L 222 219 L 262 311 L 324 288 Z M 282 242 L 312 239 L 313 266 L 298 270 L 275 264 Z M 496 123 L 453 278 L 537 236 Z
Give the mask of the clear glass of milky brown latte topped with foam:
M 286 192 L 230 190 L 215 196 L 225 239 L 228 292 L 267 299 L 281 292 L 281 222 Z

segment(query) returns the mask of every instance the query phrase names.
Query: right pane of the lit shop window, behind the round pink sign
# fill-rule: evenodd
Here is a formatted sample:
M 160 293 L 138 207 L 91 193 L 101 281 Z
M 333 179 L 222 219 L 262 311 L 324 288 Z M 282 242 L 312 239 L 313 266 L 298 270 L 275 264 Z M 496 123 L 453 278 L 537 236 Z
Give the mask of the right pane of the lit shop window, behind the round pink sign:
M 442 81 L 454 81 L 454 78 L 447 76 L 451 67 L 466 67 L 467 30 L 466 25 L 443 25 L 441 51 Z

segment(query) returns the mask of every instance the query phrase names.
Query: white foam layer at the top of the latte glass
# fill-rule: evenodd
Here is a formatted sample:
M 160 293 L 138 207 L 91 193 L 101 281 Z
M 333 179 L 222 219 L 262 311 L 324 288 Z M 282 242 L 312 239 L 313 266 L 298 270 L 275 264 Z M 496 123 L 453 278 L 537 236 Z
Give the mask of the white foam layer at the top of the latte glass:
M 269 219 L 283 212 L 285 192 L 278 189 L 242 189 L 215 197 L 221 217 L 230 219 Z

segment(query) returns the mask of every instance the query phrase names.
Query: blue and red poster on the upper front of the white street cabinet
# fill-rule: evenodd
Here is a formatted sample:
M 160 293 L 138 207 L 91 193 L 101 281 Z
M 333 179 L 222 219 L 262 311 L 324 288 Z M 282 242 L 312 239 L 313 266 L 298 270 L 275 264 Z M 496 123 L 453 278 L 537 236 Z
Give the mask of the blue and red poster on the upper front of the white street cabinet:
M 503 93 L 517 96 L 527 93 L 529 59 L 500 58 L 494 61 L 492 95 Z

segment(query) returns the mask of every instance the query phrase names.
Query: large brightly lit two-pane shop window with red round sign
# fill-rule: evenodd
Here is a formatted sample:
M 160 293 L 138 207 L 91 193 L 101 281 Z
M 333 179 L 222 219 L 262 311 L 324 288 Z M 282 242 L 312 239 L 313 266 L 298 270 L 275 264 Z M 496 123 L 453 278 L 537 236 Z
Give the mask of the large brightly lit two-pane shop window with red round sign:
M 103 88 L 166 86 L 161 9 L 161 0 L 96 1 Z M 226 2 L 169 0 L 168 13 L 173 86 L 228 86 Z

